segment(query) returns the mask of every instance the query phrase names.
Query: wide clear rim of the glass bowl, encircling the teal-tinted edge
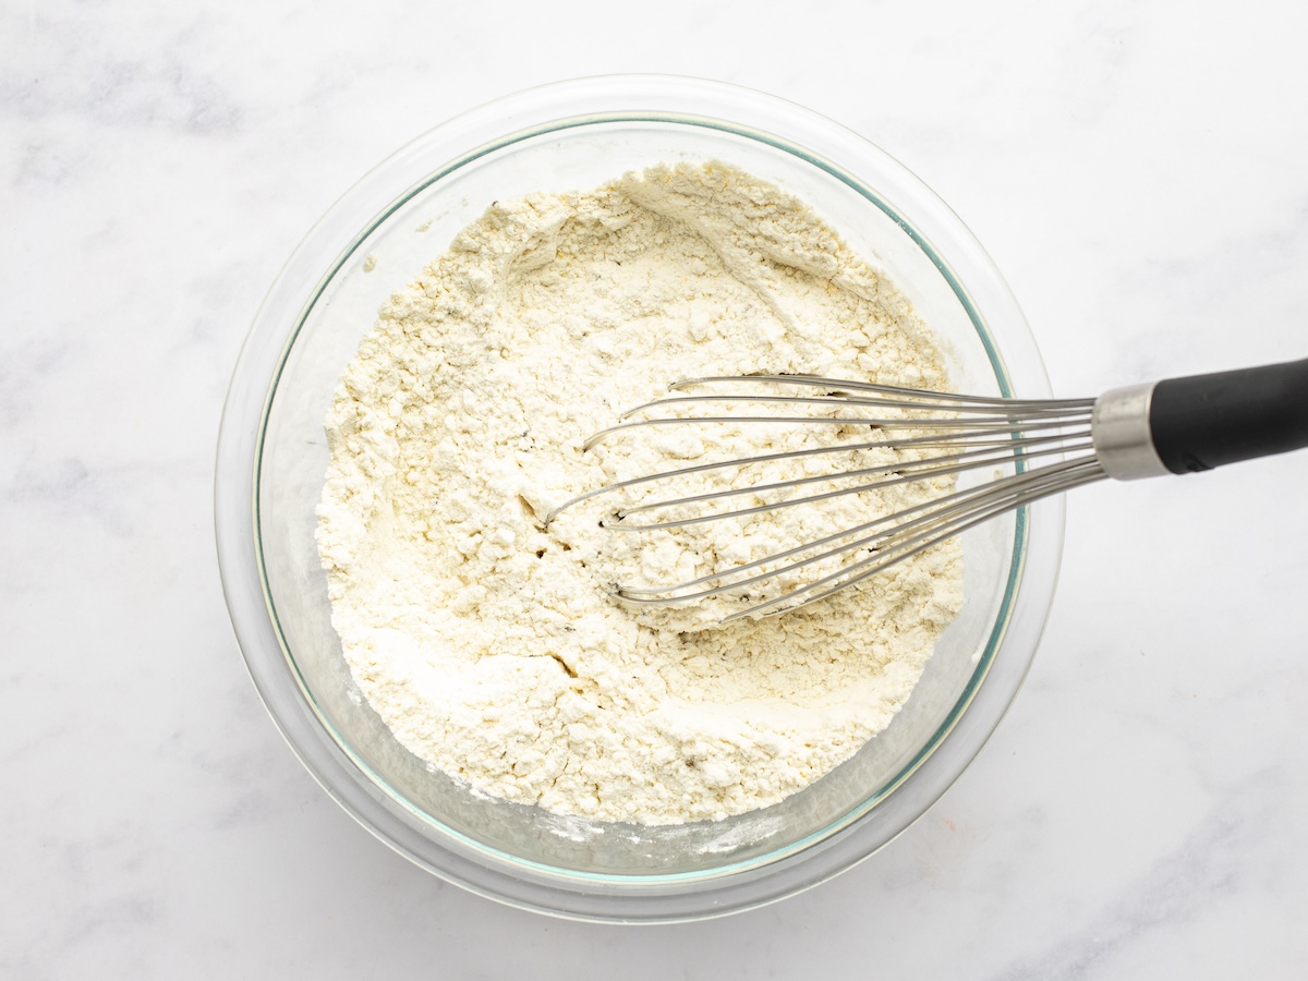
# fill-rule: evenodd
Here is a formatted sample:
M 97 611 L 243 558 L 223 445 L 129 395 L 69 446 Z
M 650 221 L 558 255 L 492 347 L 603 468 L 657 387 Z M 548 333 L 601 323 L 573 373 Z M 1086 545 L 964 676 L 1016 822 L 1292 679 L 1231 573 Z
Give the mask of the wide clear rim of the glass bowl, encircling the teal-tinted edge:
M 301 763 L 347 812 L 421 867 L 479 895 L 573 918 L 666 922 L 763 905 L 823 882 L 884 846 L 948 789 L 994 731 L 1035 655 L 1057 581 L 1063 506 L 1059 497 L 1024 509 L 1025 535 L 1019 534 L 1012 570 L 1016 589 L 1007 617 L 997 624 L 989 663 L 977 675 L 981 683 L 969 687 L 959 710 L 912 768 L 912 778 L 906 773 L 895 793 L 878 803 L 875 827 L 865 820 L 871 810 L 865 807 L 838 831 L 814 836 L 820 840 L 769 863 L 683 880 L 627 882 L 569 880 L 526 862 L 501 867 L 417 832 L 330 735 L 283 650 L 258 557 L 255 476 L 262 421 L 277 370 L 313 298 L 398 201 L 451 165 L 523 131 L 613 118 L 718 122 L 837 177 L 853 175 L 859 186 L 872 183 L 866 178 L 875 174 L 874 201 L 883 209 L 888 201 L 893 217 L 933 256 L 960 300 L 991 335 L 999 335 L 1001 378 L 1007 374 L 1028 398 L 1050 396 L 1035 339 L 993 262 L 957 216 L 883 150 L 810 110 L 738 86 L 674 76 L 579 78 L 496 99 L 428 131 L 365 175 L 309 232 L 269 289 L 233 373 L 218 437 L 215 526 L 228 608 L 251 679 Z M 396 188 L 407 190 L 398 195 Z M 984 332 L 982 340 L 991 360 L 1001 357 Z

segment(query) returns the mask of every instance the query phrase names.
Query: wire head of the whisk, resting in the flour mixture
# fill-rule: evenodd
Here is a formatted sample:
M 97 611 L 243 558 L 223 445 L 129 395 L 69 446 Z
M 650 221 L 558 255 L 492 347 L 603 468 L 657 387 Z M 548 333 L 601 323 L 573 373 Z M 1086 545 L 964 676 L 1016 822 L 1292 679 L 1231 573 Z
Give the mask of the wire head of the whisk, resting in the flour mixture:
M 712 568 L 702 574 L 616 586 L 620 599 L 641 606 L 731 600 L 723 621 L 780 613 L 1025 504 L 1103 479 L 1091 438 L 1093 405 L 1093 399 L 955 395 L 812 375 L 691 378 L 623 413 L 585 449 L 667 430 L 695 447 L 710 432 L 729 433 L 729 451 L 689 466 L 661 463 L 596 488 L 552 511 L 547 523 L 602 496 L 616 506 L 600 525 L 624 534 L 731 522 L 729 538 L 748 538 L 760 515 L 794 515 L 785 526 L 795 540 L 778 542 L 773 527 L 764 555 L 742 559 L 742 549 L 729 545 L 706 560 Z M 664 455 L 683 455 L 675 441 L 663 443 Z M 740 446 L 757 449 L 739 453 Z M 825 525 L 811 518 L 820 509 Z

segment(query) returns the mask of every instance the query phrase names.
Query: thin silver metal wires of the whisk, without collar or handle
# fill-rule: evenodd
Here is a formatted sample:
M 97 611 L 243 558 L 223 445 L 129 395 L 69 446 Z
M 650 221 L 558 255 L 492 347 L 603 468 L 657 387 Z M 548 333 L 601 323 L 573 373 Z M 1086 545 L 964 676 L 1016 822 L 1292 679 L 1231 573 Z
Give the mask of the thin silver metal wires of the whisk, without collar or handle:
M 719 385 L 743 387 L 757 385 L 766 388 L 753 392 L 678 394 L 655 399 L 624 412 L 616 425 L 591 436 L 583 443 L 583 449 L 590 450 L 606 439 L 641 428 L 674 425 L 739 428 L 766 424 L 804 428 L 806 432 L 815 433 L 866 426 L 876 433 L 876 438 L 740 455 L 645 473 L 572 498 L 547 515 L 547 525 L 560 511 L 602 494 L 630 490 L 657 481 L 667 481 L 671 487 L 695 475 L 731 468 L 743 471 L 747 467 L 790 459 L 827 458 L 835 463 L 840 459 L 837 454 L 909 451 L 904 454 L 908 459 L 901 455 L 896 460 L 876 462 L 853 470 L 842 471 L 836 466 L 833 472 L 634 502 L 619 508 L 600 523 L 621 531 L 653 532 L 723 518 L 742 519 L 783 508 L 818 505 L 849 494 L 879 492 L 897 485 L 957 479 L 978 468 L 1008 472 L 964 489 L 942 488 L 942 493 L 931 500 L 874 515 L 866 522 L 823 535 L 816 540 L 782 548 L 727 569 L 717 569 L 687 582 L 671 586 L 621 586 L 616 590 L 616 595 L 624 602 L 642 606 L 691 603 L 732 594 L 744 606 L 730 612 L 723 621 L 789 611 L 825 599 L 999 514 L 1107 476 L 1095 454 L 1093 399 L 954 395 L 816 375 L 688 378 L 672 385 L 671 391 L 683 392 L 688 388 Z M 810 391 L 818 388 L 820 394 L 793 391 L 778 394 L 778 391 L 785 392 L 787 387 Z M 747 404 L 803 408 L 808 409 L 810 415 L 722 415 L 717 411 L 718 407 Z M 696 415 L 704 408 L 712 415 Z M 869 412 L 862 415 L 858 413 L 859 409 Z M 829 415 L 823 415 L 823 411 L 829 411 Z M 823 430 L 823 426 L 827 429 Z M 848 433 L 838 436 L 848 437 Z M 840 485 L 820 493 L 793 493 L 799 488 L 823 484 Z M 696 513 L 698 505 L 769 494 L 776 494 L 777 500 L 764 500 L 746 508 L 714 508 Z M 653 515 L 655 519 L 632 521 L 633 515 Z M 867 556 L 857 557 L 857 553 L 865 551 Z M 850 559 L 853 561 L 849 561 Z M 832 572 L 823 572 L 820 564 L 824 562 L 842 564 Z M 818 566 L 816 578 L 790 585 L 787 589 L 787 581 L 793 582 L 797 573 L 810 566 Z M 772 586 L 780 587 L 781 591 L 777 595 L 765 595 L 765 590 Z

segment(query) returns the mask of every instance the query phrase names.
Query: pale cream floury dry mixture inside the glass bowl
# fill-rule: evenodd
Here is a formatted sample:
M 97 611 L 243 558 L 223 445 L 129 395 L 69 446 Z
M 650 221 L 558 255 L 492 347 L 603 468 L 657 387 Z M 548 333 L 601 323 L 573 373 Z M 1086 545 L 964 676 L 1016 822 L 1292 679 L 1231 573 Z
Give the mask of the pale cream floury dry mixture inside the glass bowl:
M 806 509 L 621 534 L 596 501 L 545 526 L 668 460 L 798 445 L 794 428 L 670 426 L 582 453 L 672 381 L 757 371 L 947 385 L 883 276 L 719 164 L 496 203 L 385 305 L 327 419 L 318 542 L 353 676 L 403 746 L 508 800 L 676 824 L 773 804 L 889 723 L 961 607 L 956 543 L 715 627 L 712 604 L 633 611 L 611 585 L 774 552 L 816 534 Z

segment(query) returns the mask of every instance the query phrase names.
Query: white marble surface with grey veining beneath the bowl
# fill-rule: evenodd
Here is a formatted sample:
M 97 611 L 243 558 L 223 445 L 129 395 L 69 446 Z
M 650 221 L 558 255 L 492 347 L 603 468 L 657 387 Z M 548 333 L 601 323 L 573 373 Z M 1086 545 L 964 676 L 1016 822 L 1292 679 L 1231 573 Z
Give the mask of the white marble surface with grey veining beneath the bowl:
M 301 234 L 566 76 L 859 129 L 988 246 L 1061 394 L 1303 357 L 1305 9 L 0 7 L 0 976 L 1308 974 L 1308 453 L 1075 496 L 1035 668 L 937 807 L 821 888 L 659 929 L 501 908 L 361 831 L 266 717 L 211 531 L 225 385 Z

